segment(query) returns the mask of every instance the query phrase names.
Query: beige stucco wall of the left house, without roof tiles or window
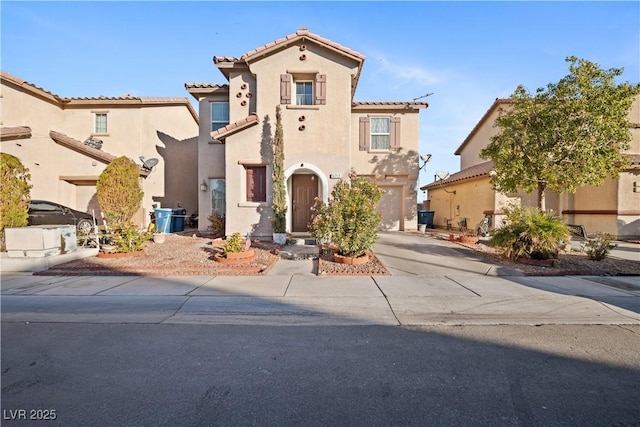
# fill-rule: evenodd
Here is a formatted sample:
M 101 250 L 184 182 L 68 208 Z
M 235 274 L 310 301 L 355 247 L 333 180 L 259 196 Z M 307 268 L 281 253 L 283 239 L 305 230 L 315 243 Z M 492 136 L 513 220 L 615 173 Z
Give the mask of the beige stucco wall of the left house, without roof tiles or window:
M 57 144 L 50 131 L 84 141 L 93 132 L 95 111 L 108 113 L 108 134 L 96 135 L 102 150 L 127 156 L 141 164 L 139 156 L 157 158 L 158 165 L 141 179 L 144 212 L 138 221 L 149 222 L 153 205 L 188 212 L 197 209 L 197 122 L 185 105 L 115 105 L 100 100 L 73 101 L 62 108 L 49 96 L 38 96 L 2 80 L 3 126 L 28 126 L 31 138 L 3 141 L 1 150 L 18 157 L 31 172 L 31 197 L 58 202 L 74 209 L 98 210 L 95 185 L 76 185 L 61 177 L 97 178 L 106 167 Z

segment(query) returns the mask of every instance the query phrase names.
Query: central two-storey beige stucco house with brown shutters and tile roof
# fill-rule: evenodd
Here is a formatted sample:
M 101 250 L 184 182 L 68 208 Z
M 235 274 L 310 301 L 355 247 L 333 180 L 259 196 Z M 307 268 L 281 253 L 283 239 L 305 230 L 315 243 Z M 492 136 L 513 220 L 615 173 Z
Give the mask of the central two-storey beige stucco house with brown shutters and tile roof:
M 199 102 L 199 228 L 205 213 L 226 234 L 271 236 L 272 139 L 282 110 L 287 230 L 307 232 L 316 196 L 327 201 L 354 170 L 385 194 L 383 228 L 415 228 L 419 112 L 424 102 L 355 102 L 364 56 L 301 28 L 245 53 L 213 58 L 227 83 L 187 83 Z

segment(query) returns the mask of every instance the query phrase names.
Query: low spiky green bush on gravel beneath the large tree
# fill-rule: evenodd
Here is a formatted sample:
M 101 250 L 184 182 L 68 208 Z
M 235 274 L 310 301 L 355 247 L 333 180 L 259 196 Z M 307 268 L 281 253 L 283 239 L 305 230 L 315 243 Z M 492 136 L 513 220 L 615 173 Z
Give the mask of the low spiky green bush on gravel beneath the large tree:
M 569 239 L 567 226 L 552 212 L 512 205 L 505 213 L 505 223 L 495 230 L 490 243 L 504 249 L 508 258 L 557 258 L 559 248 Z

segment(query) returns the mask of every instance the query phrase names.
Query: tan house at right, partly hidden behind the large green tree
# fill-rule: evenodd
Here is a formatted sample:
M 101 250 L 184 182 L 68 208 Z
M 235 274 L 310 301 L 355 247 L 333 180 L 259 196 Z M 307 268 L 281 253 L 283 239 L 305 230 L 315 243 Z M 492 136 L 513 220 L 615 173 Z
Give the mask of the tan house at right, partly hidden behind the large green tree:
M 509 99 L 496 99 L 463 141 L 455 154 L 460 156 L 460 171 L 447 179 L 422 187 L 427 190 L 429 209 L 435 212 L 434 224 L 445 227 L 447 219 L 455 228 L 467 218 L 475 228 L 485 215 L 491 215 L 493 226 L 504 218 L 506 203 L 518 202 L 536 206 L 536 194 L 501 194 L 489 183 L 493 163 L 480 158 L 480 151 L 491 142 L 498 129 L 494 127 L 500 108 L 508 108 Z M 640 236 L 640 97 L 629 111 L 632 140 L 625 152 L 631 166 L 618 179 L 607 178 L 600 186 L 584 186 L 575 194 L 545 193 L 546 207 L 560 214 L 567 224 L 584 225 L 588 233 L 606 232 L 618 238 Z

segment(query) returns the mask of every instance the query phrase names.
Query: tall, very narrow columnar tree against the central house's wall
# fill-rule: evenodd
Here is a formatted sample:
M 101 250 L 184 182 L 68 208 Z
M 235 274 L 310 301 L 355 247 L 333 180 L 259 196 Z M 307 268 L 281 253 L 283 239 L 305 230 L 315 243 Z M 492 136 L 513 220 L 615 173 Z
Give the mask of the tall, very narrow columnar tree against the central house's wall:
M 282 114 L 276 106 L 276 132 L 273 138 L 273 219 L 274 233 L 287 231 L 287 189 L 284 180 L 284 132 Z

